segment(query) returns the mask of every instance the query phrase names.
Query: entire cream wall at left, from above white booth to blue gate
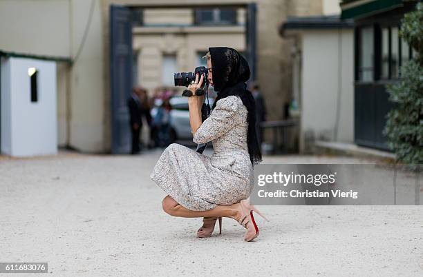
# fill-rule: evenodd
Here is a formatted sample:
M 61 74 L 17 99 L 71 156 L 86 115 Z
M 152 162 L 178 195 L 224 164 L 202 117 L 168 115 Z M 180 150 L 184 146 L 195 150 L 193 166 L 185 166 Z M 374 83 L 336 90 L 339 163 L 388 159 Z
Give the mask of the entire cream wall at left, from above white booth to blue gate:
M 72 67 L 57 65 L 58 143 L 85 152 L 104 151 L 104 57 L 101 0 L 82 52 Z M 0 49 L 75 58 L 91 1 L 0 1 Z

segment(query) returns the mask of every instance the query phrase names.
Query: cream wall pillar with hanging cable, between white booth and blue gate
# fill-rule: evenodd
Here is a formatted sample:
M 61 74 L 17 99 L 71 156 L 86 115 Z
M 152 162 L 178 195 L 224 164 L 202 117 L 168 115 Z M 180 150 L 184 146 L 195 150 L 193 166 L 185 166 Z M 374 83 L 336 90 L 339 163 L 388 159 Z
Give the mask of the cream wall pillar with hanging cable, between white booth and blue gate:
M 82 43 L 91 1 L 71 1 L 71 57 Z M 109 80 L 104 76 L 102 6 L 95 0 L 91 26 L 84 48 L 71 70 L 70 145 L 84 152 L 104 152 L 104 88 Z

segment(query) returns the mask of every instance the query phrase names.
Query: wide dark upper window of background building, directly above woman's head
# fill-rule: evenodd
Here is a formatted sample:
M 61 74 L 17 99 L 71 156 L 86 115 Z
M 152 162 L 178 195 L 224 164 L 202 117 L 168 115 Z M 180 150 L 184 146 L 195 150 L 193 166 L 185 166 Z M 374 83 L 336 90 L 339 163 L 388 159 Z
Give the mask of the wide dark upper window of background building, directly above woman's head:
M 195 10 L 197 25 L 236 25 L 236 9 L 214 8 Z

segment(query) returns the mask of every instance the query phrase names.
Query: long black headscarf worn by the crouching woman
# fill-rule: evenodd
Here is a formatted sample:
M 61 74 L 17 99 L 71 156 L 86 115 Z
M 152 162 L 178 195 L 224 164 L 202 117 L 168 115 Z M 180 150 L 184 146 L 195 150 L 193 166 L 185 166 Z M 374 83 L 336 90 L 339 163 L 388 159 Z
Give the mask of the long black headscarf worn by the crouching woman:
M 209 48 L 212 59 L 213 85 L 217 92 L 213 107 L 218 100 L 229 95 L 240 96 L 248 110 L 247 145 L 250 161 L 256 165 L 263 161 L 256 135 L 256 102 L 245 83 L 250 79 L 250 67 L 247 61 L 236 50 L 227 47 Z

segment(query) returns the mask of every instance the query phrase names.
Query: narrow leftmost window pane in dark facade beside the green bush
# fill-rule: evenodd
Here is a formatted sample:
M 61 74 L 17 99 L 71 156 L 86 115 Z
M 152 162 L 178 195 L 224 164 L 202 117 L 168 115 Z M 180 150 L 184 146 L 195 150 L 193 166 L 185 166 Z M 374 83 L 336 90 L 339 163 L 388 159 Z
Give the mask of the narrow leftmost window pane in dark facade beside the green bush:
M 359 30 L 359 81 L 373 81 L 374 71 L 374 41 L 373 27 L 365 27 Z

